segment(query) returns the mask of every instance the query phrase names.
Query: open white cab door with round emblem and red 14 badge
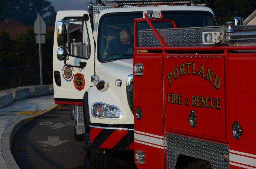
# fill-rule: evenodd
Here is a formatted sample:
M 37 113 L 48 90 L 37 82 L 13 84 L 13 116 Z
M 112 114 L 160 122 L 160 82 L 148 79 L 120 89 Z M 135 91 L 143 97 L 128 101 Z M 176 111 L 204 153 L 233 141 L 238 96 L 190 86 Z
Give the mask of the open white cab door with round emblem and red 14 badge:
M 68 50 L 66 64 L 64 64 L 64 57 L 61 58 L 59 54 L 64 47 L 58 45 L 59 40 L 56 36 L 58 31 L 61 31 L 58 21 L 63 20 L 68 30 L 65 46 L 65 50 Z M 62 35 L 64 33 L 62 31 Z M 58 11 L 53 49 L 53 84 L 56 104 L 83 105 L 85 91 L 94 85 L 91 83 L 91 76 L 94 75 L 94 51 L 88 11 Z

